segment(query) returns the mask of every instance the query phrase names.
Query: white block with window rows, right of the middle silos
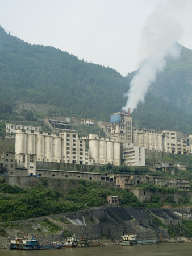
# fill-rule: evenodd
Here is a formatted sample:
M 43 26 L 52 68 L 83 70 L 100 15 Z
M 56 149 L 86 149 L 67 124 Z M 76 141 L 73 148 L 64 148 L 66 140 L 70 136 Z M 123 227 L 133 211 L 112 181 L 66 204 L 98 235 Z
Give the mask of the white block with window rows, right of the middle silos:
M 128 166 L 145 166 L 145 148 L 123 143 L 123 163 Z

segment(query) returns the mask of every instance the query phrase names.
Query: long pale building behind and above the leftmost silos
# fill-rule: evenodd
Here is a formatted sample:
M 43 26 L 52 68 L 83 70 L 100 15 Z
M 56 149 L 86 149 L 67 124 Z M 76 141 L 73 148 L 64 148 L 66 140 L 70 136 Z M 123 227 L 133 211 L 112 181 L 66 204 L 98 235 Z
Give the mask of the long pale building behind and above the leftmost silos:
M 29 131 L 41 131 L 40 126 L 31 125 L 16 125 L 15 123 L 6 123 L 5 138 L 9 139 L 15 137 L 16 129 L 29 130 Z

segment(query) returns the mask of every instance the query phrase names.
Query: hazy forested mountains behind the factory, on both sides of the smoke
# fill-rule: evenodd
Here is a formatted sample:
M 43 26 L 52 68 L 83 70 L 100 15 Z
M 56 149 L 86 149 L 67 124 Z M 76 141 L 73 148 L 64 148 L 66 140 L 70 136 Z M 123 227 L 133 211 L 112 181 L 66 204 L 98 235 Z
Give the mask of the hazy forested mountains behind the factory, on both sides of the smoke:
M 185 47 L 180 59 L 168 60 L 145 103 L 132 113 L 136 127 L 192 133 L 191 63 L 192 51 Z M 43 114 L 109 121 L 126 105 L 123 94 L 133 74 L 123 77 L 59 49 L 31 45 L 0 27 L 0 119 L 20 118 L 15 113 L 19 101 L 37 109 L 45 104 Z M 22 114 L 28 118 L 31 113 L 23 109 Z

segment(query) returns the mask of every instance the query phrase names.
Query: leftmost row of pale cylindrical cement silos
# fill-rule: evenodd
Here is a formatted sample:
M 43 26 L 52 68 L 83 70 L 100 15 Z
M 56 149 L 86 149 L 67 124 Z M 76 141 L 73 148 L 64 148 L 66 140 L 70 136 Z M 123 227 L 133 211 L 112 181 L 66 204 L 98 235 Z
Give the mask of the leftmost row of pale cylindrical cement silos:
M 15 153 L 36 154 L 39 161 L 60 162 L 65 149 L 61 139 L 50 135 L 16 133 Z

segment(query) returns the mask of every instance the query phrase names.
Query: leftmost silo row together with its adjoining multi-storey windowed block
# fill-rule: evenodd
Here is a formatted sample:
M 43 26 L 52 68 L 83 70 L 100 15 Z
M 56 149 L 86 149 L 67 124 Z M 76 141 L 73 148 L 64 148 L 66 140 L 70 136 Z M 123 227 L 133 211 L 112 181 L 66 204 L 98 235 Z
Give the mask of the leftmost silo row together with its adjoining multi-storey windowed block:
M 15 158 L 17 167 L 28 168 L 22 158 L 36 161 L 89 164 L 89 151 L 85 141 L 78 138 L 78 133 L 63 132 L 60 134 L 43 133 L 33 130 L 16 130 Z M 20 161 L 20 162 L 19 162 Z M 35 167 L 34 167 L 35 170 Z

